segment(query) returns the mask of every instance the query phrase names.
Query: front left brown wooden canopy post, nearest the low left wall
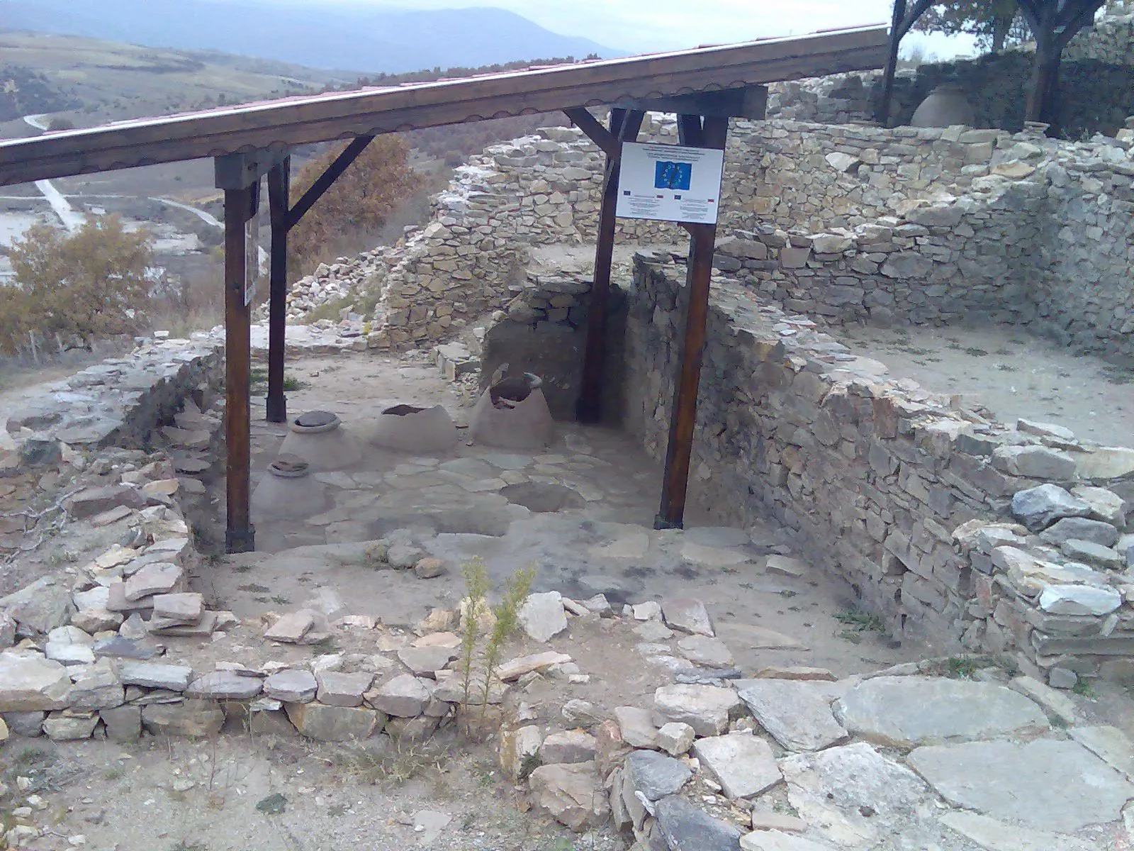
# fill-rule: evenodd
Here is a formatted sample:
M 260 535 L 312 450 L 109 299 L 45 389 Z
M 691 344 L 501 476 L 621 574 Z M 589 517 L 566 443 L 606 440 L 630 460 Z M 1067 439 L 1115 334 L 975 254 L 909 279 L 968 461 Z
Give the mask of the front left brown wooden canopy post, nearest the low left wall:
M 247 263 L 245 225 L 252 210 L 248 186 L 225 189 L 225 448 L 227 465 L 226 553 L 255 549 L 256 533 L 248 511 L 249 431 L 248 372 L 251 323 L 245 304 Z

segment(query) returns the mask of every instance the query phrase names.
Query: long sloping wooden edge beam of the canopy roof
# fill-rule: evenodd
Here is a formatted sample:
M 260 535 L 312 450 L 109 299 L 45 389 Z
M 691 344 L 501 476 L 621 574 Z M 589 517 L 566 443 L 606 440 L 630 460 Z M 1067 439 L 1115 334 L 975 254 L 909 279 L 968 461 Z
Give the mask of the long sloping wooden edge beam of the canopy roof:
M 877 68 L 886 28 L 333 92 L 0 143 L 0 185 Z

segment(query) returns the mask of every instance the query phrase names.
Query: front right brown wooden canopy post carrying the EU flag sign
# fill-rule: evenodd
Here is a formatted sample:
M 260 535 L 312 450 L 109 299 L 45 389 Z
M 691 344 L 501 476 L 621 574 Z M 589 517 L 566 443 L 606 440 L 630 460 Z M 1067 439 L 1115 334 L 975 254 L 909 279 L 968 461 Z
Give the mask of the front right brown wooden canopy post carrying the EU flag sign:
M 728 118 L 721 116 L 678 116 L 677 127 L 683 145 L 725 149 Z M 688 270 L 685 288 L 688 306 L 685 312 L 685 343 L 682 365 L 674 389 L 669 414 L 669 443 L 666 446 L 666 470 L 661 483 L 661 507 L 654 529 L 680 529 L 685 522 L 685 494 L 693 457 L 693 432 L 697 420 L 697 388 L 709 319 L 709 281 L 717 244 L 716 225 L 687 225 L 689 230 Z

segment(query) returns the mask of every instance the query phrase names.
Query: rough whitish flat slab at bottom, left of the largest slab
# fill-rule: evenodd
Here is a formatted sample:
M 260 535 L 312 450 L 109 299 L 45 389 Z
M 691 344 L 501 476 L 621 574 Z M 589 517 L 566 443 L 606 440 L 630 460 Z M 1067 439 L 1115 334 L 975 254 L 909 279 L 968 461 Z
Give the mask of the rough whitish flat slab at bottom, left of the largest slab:
M 865 742 L 797 753 L 780 760 L 788 800 L 810 825 L 838 845 L 877 848 L 921 820 L 925 783 Z M 907 844 L 905 848 L 919 848 Z

